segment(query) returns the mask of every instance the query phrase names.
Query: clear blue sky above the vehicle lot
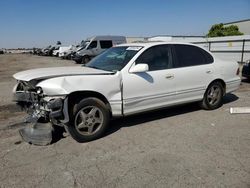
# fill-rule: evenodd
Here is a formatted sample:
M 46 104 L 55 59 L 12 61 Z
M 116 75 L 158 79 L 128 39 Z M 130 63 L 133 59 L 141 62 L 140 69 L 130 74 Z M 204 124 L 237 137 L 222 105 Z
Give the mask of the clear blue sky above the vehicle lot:
M 250 0 L 1 0 L 0 48 L 77 44 L 94 35 L 205 35 L 250 18 Z

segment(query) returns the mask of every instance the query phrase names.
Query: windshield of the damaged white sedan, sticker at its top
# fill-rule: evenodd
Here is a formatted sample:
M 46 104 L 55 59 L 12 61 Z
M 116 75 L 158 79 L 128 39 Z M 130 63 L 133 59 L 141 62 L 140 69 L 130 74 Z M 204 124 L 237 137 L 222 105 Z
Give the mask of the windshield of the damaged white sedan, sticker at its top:
M 85 66 L 112 72 L 120 71 L 141 48 L 138 46 L 109 48 Z

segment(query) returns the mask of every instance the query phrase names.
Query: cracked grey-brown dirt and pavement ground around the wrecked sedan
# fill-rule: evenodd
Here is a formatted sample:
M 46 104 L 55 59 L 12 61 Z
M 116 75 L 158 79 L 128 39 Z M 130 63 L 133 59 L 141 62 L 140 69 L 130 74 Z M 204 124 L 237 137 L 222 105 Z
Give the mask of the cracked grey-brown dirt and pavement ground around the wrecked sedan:
M 196 104 L 111 122 L 96 141 L 70 136 L 49 146 L 21 140 L 25 113 L 13 102 L 12 75 L 55 66 L 79 66 L 55 57 L 0 55 L 0 187 L 250 187 L 250 83 L 224 97 L 214 111 Z

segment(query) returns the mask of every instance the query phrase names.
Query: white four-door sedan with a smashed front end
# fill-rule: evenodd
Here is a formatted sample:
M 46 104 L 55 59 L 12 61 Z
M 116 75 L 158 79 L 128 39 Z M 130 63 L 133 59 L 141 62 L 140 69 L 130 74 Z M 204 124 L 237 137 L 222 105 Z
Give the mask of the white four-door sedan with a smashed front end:
M 195 101 L 216 109 L 241 81 L 236 62 L 173 42 L 122 44 L 82 67 L 27 70 L 14 78 L 15 101 L 28 109 L 28 119 L 64 126 L 78 142 L 102 136 L 113 117 Z

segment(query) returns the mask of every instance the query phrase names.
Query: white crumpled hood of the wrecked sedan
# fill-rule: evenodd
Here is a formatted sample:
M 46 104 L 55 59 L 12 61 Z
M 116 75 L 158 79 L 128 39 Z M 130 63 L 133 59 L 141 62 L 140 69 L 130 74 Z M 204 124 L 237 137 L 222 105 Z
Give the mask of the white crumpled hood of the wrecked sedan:
M 30 81 L 34 79 L 45 79 L 60 76 L 73 76 L 73 75 L 100 75 L 111 74 L 112 72 L 89 68 L 89 67 L 53 67 L 53 68 L 40 68 L 31 69 L 18 72 L 13 75 L 17 80 Z

